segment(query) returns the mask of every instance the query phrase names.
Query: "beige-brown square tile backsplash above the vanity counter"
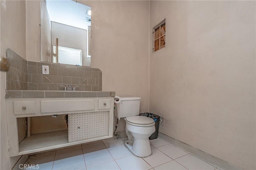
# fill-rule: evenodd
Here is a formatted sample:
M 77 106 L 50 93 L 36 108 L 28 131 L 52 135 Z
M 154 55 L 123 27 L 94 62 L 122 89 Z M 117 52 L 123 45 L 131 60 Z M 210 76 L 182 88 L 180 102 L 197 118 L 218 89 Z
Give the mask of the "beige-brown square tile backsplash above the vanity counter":
M 7 50 L 10 70 L 6 73 L 8 90 L 64 90 L 68 85 L 77 91 L 102 91 L 102 72 L 97 68 L 26 61 Z M 42 74 L 42 65 L 49 66 L 49 75 Z

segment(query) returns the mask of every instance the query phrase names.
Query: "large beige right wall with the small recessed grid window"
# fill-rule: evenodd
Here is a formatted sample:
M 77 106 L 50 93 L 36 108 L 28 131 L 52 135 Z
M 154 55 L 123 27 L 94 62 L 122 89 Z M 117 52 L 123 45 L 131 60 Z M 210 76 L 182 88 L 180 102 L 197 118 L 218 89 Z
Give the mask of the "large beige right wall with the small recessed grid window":
M 150 1 L 150 28 L 164 18 L 166 47 L 150 52 L 160 132 L 256 169 L 255 1 Z

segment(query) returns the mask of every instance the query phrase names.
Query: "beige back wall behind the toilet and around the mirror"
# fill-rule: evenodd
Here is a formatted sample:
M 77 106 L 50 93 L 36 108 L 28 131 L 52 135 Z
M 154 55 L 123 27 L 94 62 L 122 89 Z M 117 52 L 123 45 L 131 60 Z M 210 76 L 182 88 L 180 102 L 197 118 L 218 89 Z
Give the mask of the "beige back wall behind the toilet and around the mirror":
M 149 2 L 78 2 L 92 8 L 91 67 L 102 71 L 102 90 L 116 91 L 119 96 L 141 97 L 140 111 L 148 111 Z M 35 12 L 34 18 L 37 15 L 40 17 L 40 13 Z M 38 34 L 40 32 L 34 33 L 34 37 Z M 38 43 L 40 45 L 40 41 L 35 45 Z M 27 59 L 40 61 L 40 56 L 28 55 Z M 118 131 L 125 130 L 124 121 L 118 126 Z

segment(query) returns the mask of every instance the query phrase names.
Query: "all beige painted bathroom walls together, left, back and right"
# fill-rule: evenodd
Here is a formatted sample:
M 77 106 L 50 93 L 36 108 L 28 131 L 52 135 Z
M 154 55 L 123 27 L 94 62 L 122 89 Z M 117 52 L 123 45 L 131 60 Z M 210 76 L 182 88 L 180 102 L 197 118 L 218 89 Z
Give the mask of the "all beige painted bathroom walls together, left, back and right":
M 9 47 L 40 61 L 40 3 L 0 3 L 1 56 Z M 151 1 L 150 28 L 166 18 L 166 47 L 155 53 L 148 1 L 82 3 L 92 7 L 91 65 L 102 71 L 103 91 L 141 97 L 140 112 L 150 106 L 163 116 L 160 132 L 239 168 L 256 169 L 255 1 Z M 32 6 L 33 17 L 32 10 L 25 16 L 25 7 Z M 17 158 L 8 157 L 5 73 L 0 78 L 0 169 L 9 169 Z

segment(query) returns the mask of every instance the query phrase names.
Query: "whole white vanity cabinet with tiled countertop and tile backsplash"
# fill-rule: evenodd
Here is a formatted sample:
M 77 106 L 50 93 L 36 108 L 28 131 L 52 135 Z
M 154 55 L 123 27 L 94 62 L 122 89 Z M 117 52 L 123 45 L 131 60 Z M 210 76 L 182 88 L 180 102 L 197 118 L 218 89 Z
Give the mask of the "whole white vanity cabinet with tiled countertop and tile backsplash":
M 113 136 L 115 92 L 101 91 L 100 69 L 30 62 L 10 49 L 7 58 L 10 71 L 6 73 L 5 97 L 10 156 Z M 49 75 L 42 74 L 42 65 L 49 66 Z M 80 88 L 64 91 L 60 85 Z

